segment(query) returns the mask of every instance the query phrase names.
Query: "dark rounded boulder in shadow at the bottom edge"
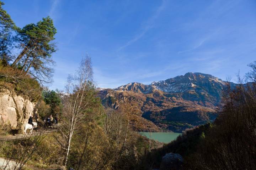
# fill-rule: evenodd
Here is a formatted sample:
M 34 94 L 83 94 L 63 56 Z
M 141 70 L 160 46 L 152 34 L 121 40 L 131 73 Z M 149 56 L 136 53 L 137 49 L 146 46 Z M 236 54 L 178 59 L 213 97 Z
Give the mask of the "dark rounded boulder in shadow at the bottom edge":
M 181 170 L 183 158 L 177 153 L 167 153 L 162 157 L 159 170 Z

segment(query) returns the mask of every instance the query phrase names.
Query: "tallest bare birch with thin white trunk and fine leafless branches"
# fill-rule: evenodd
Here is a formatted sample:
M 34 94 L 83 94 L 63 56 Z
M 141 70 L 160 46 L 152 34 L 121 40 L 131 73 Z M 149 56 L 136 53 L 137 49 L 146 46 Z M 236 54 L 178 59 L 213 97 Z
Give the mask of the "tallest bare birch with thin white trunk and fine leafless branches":
M 63 149 L 65 150 L 64 165 L 68 163 L 70 146 L 75 130 L 82 123 L 88 113 L 88 107 L 92 103 L 93 71 L 91 58 L 83 58 L 79 69 L 74 76 L 69 75 L 66 85 L 66 97 L 64 99 L 62 125 L 60 132 L 64 138 Z

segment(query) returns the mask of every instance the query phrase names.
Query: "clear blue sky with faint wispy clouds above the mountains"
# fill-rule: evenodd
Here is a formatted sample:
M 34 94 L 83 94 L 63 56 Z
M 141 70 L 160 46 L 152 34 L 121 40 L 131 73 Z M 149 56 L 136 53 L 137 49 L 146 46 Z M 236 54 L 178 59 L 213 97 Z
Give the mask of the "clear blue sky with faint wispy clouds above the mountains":
M 64 89 L 86 53 L 98 86 L 110 88 L 187 72 L 235 80 L 256 60 L 255 0 L 4 2 L 19 27 L 53 18 L 58 51 L 50 89 Z

